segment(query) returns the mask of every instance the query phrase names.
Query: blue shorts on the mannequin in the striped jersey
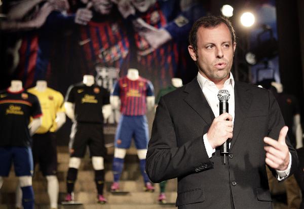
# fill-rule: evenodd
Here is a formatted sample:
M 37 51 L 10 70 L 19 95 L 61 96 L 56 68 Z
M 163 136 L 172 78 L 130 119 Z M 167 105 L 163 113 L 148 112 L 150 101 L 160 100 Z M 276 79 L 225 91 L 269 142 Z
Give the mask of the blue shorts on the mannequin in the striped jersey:
M 147 149 L 149 130 L 145 115 L 121 116 L 115 135 L 115 147 L 130 148 L 132 138 L 138 150 Z

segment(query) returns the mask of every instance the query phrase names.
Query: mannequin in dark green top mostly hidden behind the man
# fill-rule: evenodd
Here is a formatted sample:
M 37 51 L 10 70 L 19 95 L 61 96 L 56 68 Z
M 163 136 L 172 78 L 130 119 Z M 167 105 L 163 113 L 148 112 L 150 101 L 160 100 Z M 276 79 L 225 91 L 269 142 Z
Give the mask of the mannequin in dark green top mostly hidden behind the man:
M 156 103 L 155 103 L 155 112 L 156 112 L 156 108 L 158 106 L 158 102 L 160 101 L 160 98 L 164 95 L 166 95 L 167 93 L 170 93 L 171 91 L 174 91 L 175 89 L 179 88 L 182 86 L 182 80 L 180 78 L 172 78 L 171 79 L 171 85 L 165 88 L 162 88 L 157 97 L 156 97 Z M 158 201 L 160 203 L 166 203 L 166 194 L 165 194 L 165 190 L 166 190 L 166 183 L 167 181 L 163 181 L 160 183 L 160 194 L 158 197 Z

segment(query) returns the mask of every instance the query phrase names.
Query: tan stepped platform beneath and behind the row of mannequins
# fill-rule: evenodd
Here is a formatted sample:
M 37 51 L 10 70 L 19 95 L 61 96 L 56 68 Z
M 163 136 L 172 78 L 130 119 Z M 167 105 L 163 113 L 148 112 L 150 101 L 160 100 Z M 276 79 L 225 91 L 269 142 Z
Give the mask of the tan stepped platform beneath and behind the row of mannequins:
M 108 155 L 105 157 L 105 188 L 104 196 L 108 200 L 106 204 L 97 204 L 97 190 L 94 182 L 94 170 L 92 168 L 89 152 L 82 160 L 78 179 L 75 184 L 75 200 L 82 202 L 82 205 L 60 205 L 61 209 L 129 209 L 129 208 L 175 208 L 174 204 L 159 204 L 158 195 L 160 192 L 159 185 L 155 184 L 155 192 L 144 192 L 143 179 L 139 170 L 139 160 L 137 158 L 136 149 L 131 147 L 125 158 L 125 168 L 122 173 L 120 188 L 128 191 L 128 194 L 119 195 L 109 192 L 110 185 L 113 181 L 111 171 L 114 149 L 108 148 Z M 65 178 L 68 169 L 69 154 L 68 148 L 65 146 L 58 147 L 58 181 L 59 181 L 59 202 L 64 200 L 66 186 Z M 15 177 L 13 169 L 9 178 L 4 179 L 4 184 L 0 190 L 0 208 L 15 208 L 15 190 L 18 179 Z M 176 180 L 170 180 L 166 186 L 167 202 L 175 203 L 176 200 Z M 49 209 L 49 196 L 47 193 L 47 181 L 39 171 L 39 167 L 35 168 L 33 177 L 33 189 L 35 194 L 35 208 Z

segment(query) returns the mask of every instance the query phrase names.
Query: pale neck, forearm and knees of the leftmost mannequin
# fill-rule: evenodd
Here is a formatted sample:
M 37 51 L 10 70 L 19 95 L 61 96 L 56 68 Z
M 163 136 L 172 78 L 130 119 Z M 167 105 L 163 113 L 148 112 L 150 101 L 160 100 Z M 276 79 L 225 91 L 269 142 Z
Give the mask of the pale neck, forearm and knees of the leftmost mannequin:
M 10 92 L 21 92 L 21 91 L 23 91 L 22 82 L 19 81 L 19 80 L 12 80 L 11 81 L 11 86 L 8 88 L 8 90 Z M 28 129 L 29 129 L 29 133 L 30 133 L 31 136 L 41 126 L 41 124 L 42 124 L 42 119 L 41 118 L 35 118 L 29 123 Z M 0 177 L 0 188 L 2 187 L 2 184 L 3 184 L 3 177 Z M 18 185 L 19 185 L 19 187 L 24 187 L 24 188 L 31 187 L 32 186 L 32 177 L 31 176 L 20 176 Z M 21 190 L 21 188 L 20 188 L 20 190 Z M 19 194 L 21 194 L 21 191 L 19 192 Z M 22 196 L 20 198 L 21 198 L 21 201 L 22 201 Z M 20 203 L 20 205 L 21 205 L 21 203 Z

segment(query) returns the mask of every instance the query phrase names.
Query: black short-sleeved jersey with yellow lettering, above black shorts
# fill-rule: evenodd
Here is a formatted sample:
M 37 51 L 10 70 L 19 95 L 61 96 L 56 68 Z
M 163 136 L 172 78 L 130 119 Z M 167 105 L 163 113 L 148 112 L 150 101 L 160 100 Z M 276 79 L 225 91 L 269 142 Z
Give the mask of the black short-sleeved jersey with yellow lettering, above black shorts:
M 74 103 L 76 121 L 103 123 L 102 106 L 110 103 L 110 94 L 103 87 L 80 83 L 69 87 L 65 101 Z

